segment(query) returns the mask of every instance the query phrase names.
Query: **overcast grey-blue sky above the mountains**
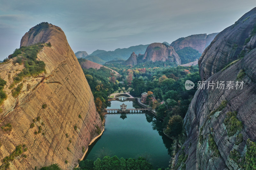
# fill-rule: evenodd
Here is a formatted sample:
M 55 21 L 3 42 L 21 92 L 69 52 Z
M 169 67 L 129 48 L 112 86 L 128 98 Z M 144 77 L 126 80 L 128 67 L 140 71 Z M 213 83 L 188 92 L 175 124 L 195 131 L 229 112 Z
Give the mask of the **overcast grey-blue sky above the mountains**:
M 60 26 L 76 51 L 115 50 L 216 33 L 255 0 L 0 0 L 0 60 L 40 22 Z

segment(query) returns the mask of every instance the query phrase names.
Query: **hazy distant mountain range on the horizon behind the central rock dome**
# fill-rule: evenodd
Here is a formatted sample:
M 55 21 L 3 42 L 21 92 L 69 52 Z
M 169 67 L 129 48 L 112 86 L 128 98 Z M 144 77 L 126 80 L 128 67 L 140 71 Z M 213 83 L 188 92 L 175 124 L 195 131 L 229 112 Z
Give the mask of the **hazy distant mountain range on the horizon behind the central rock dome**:
M 195 34 L 195 35 L 190 35 L 188 37 L 179 38 L 179 39 L 173 41 L 171 44 L 169 44 L 166 41 L 164 41 L 162 44 L 165 44 L 166 46 L 171 46 L 171 48 L 173 48 L 176 52 L 182 49 L 182 51 L 177 52 L 177 53 L 179 55 L 180 54 L 184 55 L 184 57 L 180 56 L 180 59 L 181 59 L 181 64 L 185 64 L 187 62 L 188 63 L 193 62 L 194 61 L 193 58 L 195 58 L 195 60 L 198 59 L 200 57 L 200 55 L 203 53 L 204 49 L 212 42 L 212 40 L 214 39 L 214 37 L 217 34 L 218 33 L 212 33 L 209 35 L 207 35 L 206 33 Z M 90 55 L 88 55 L 85 51 L 78 51 L 78 52 L 76 52 L 76 57 L 84 58 L 86 60 L 90 60 L 92 62 L 99 63 L 99 64 L 105 64 L 106 62 L 113 63 L 113 61 L 118 61 L 118 63 L 120 63 L 122 60 L 127 60 L 133 52 L 134 52 L 134 54 L 144 55 L 148 46 L 149 46 L 149 44 L 137 45 L 137 46 L 132 46 L 129 48 L 117 48 L 114 51 L 105 51 L 105 50 L 97 49 L 96 51 L 92 52 L 92 54 L 90 54 Z M 183 48 L 185 48 L 185 49 L 183 50 Z M 191 52 L 191 49 L 197 50 L 199 53 L 196 51 L 193 51 L 193 55 L 191 55 L 191 54 L 189 54 Z M 174 53 L 175 53 L 175 51 L 174 51 Z M 159 51 L 155 50 L 155 52 L 159 52 Z M 162 53 L 159 53 L 159 54 L 162 54 Z M 152 59 L 161 58 L 161 57 L 162 56 L 154 55 L 154 57 Z M 133 57 L 133 60 L 135 58 L 136 57 Z M 165 56 L 165 58 L 166 58 L 166 56 Z M 176 56 L 176 58 L 177 58 L 177 56 Z M 185 58 L 185 60 L 183 58 Z M 147 61 L 148 61 L 148 59 L 147 59 Z M 132 60 L 129 59 L 129 61 L 127 61 L 126 63 L 132 63 Z

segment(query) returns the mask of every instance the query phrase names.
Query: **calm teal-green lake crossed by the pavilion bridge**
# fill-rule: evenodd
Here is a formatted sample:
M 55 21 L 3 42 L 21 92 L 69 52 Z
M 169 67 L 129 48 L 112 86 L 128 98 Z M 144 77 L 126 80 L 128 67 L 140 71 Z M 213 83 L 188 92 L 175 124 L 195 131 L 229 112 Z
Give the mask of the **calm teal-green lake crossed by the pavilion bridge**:
M 132 101 L 111 101 L 111 106 L 107 108 L 120 108 L 122 103 L 127 108 L 140 108 Z M 106 155 L 124 159 L 143 156 L 155 167 L 168 167 L 172 141 L 164 136 L 161 126 L 162 122 L 151 113 L 108 114 L 105 131 L 97 142 L 89 146 L 84 159 L 102 159 Z

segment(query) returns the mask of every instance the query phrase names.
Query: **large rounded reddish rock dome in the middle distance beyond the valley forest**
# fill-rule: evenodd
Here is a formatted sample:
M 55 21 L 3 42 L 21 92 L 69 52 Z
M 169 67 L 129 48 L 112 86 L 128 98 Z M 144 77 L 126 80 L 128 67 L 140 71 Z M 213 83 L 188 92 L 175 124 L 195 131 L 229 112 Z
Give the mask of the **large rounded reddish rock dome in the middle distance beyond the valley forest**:
M 163 43 L 152 43 L 146 49 L 143 61 L 167 61 L 181 64 L 179 55 L 175 52 L 172 46 L 167 46 Z

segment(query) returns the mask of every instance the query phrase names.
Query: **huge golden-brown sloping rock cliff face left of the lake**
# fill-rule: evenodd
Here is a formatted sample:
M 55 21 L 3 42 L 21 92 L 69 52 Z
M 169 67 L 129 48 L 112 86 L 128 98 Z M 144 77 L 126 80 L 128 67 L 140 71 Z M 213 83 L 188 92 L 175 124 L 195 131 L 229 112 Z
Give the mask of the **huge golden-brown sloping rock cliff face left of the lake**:
M 36 78 L 25 78 L 17 98 L 12 97 L 8 87 L 24 65 L 14 65 L 13 59 L 0 65 L 0 76 L 7 81 L 4 91 L 8 95 L 1 106 L 0 126 L 12 125 L 11 132 L 0 130 L 0 159 L 9 156 L 15 146 L 26 144 L 27 158 L 15 158 L 10 162 L 11 169 L 34 169 L 53 163 L 58 163 L 63 169 L 72 169 L 82 158 L 83 147 L 86 149 L 92 138 L 98 135 L 96 126 L 103 128 L 102 123 L 90 87 L 64 32 L 51 24 L 36 35 L 35 32 L 33 27 L 25 33 L 20 46 L 51 42 L 52 47 L 44 47 L 37 55 L 37 59 L 46 64 L 46 71 Z M 27 88 L 28 84 L 30 88 Z M 43 104 L 47 107 L 42 108 Z M 32 120 L 38 116 L 40 121 L 30 129 Z M 39 126 L 42 126 L 44 135 L 34 134 Z

